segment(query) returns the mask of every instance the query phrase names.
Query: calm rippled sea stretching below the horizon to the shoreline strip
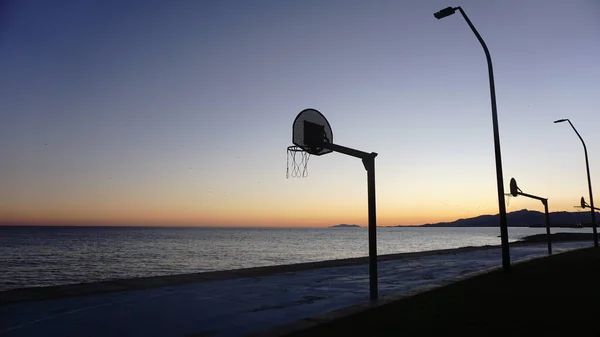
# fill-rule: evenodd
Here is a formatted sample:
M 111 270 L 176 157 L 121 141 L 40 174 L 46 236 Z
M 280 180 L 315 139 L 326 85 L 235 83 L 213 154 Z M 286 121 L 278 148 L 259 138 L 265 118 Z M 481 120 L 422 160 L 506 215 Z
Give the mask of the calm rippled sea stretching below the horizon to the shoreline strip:
M 513 227 L 509 240 L 540 233 Z M 382 227 L 377 251 L 499 245 L 499 234 L 491 227 Z M 367 255 L 366 228 L 0 227 L 0 290 Z

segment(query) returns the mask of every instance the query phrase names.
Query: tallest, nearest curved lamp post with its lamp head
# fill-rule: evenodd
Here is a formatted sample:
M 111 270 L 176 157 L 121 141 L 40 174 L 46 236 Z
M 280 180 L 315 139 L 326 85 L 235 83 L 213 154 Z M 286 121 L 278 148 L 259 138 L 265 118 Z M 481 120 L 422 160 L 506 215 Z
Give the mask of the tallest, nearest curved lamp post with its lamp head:
M 465 11 L 463 11 L 461 7 L 446 7 L 441 11 L 433 14 L 433 16 L 435 16 L 436 19 L 442 19 L 446 16 L 454 14 L 456 10 L 458 10 L 460 14 L 462 14 L 465 21 L 467 21 L 469 27 L 471 27 L 473 34 L 475 34 L 475 37 L 477 37 L 477 40 L 479 40 L 479 43 L 481 43 L 481 47 L 483 47 L 483 51 L 485 53 L 485 57 L 488 63 L 488 73 L 490 78 L 490 98 L 492 102 L 492 124 L 494 128 L 494 150 L 496 153 L 496 183 L 498 185 L 498 208 L 500 213 L 500 242 L 502 243 L 502 269 L 504 270 L 504 272 L 508 273 L 511 269 L 510 250 L 508 247 L 508 226 L 506 224 L 506 205 L 504 203 L 504 179 L 502 177 L 500 133 L 498 131 L 498 112 L 496 109 L 496 89 L 494 86 L 494 71 L 492 69 L 492 58 L 490 57 L 490 52 L 487 49 L 485 41 L 483 41 L 481 35 L 479 35 L 479 32 L 477 32 L 477 29 L 475 29 L 475 26 L 473 26 L 471 20 L 469 20 L 467 14 L 465 14 Z

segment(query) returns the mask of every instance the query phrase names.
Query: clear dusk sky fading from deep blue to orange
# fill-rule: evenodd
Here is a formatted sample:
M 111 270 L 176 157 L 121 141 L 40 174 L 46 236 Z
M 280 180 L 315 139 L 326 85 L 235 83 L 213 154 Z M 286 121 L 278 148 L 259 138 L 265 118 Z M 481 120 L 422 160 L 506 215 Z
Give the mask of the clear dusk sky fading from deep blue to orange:
M 575 211 L 600 190 L 600 3 L 19 0 L 0 5 L 0 223 L 366 226 L 360 159 L 286 178 L 292 122 L 376 152 L 377 224 Z M 510 198 L 507 210 L 543 211 Z

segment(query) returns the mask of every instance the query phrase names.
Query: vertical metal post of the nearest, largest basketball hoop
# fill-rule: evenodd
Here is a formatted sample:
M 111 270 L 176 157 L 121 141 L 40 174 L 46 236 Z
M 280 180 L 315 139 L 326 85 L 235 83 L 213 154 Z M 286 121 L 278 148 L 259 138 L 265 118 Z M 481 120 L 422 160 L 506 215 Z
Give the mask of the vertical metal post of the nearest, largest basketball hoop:
M 367 194 L 369 198 L 369 295 L 371 300 L 378 297 L 377 285 L 377 213 L 375 204 L 375 156 L 363 158 L 367 170 Z

